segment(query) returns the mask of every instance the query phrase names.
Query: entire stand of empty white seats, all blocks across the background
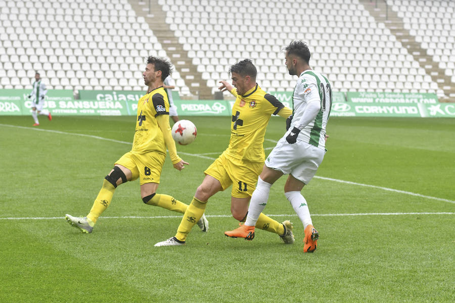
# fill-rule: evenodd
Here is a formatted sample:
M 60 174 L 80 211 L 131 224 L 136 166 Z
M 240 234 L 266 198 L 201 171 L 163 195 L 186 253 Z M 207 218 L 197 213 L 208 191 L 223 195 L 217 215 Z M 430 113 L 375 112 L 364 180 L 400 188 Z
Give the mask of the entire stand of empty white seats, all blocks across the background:
M 0 88 L 31 88 L 34 72 L 40 70 L 50 88 L 143 90 L 144 58 L 167 56 L 153 29 L 131 8 L 136 1 L 0 0 Z M 229 67 L 244 58 L 258 67 L 264 89 L 292 89 L 295 77 L 286 70 L 282 48 L 302 39 L 312 52 L 310 65 L 327 74 L 336 91 L 444 94 L 358 0 L 307 1 L 305 6 L 295 1 L 158 3 L 212 92 L 219 80 L 229 79 Z M 455 2 L 387 3 L 453 82 Z M 173 77 L 180 95 L 190 95 L 191 79 L 181 78 L 178 70 Z

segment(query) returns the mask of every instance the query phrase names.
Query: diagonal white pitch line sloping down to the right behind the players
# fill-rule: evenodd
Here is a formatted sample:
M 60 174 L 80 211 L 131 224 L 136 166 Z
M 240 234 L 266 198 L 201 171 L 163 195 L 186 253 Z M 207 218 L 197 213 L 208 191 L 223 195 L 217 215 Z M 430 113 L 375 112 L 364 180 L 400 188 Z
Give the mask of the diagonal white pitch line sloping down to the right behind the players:
M 89 138 L 105 140 L 105 141 L 111 141 L 111 142 L 122 143 L 122 144 L 128 144 L 128 145 L 132 144 L 131 142 L 119 141 L 119 140 L 114 140 L 114 139 L 109 139 L 109 138 L 104 138 L 104 137 L 99 137 L 99 136 L 93 136 L 93 135 L 86 135 L 86 134 L 79 134 L 79 133 L 69 133 L 69 132 L 58 131 L 58 130 L 41 129 L 41 128 L 17 126 L 17 125 L 11 125 L 11 124 L 1 124 L 1 123 L 0 123 L 0 126 L 22 128 L 22 129 L 29 129 L 29 130 L 36 130 L 36 131 L 47 131 L 47 132 L 52 132 L 52 133 L 64 134 L 64 135 L 74 135 L 74 136 L 81 136 L 81 137 L 89 137 Z M 278 142 L 278 141 L 271 140 L 271 139 L 265 139 L 265 140 L 270 141 L 270 142 L 275 142 L 275 143 Z M 203 158 L 203 159 L 215 160 L 215 158 L 204 156 L 204 155 L 207 155 L 207 154 L 189 154 L 189 153 L 183 153 L 181 151 L 179 151 L 178 153 L 181 154 L 181 155 L 185 155 L 185 156 L 191 156 L 191 157 L 198 157 L 198 158 Z M 221 154 L 221 153 L 219 153 L 219 154 Z M 345 184 L 351 184 L 351 185 L 357 185 L 357 186 L 378 188 L 378 189 L 382 189 L 382 190 L 386 190 L 386 191 L 392 191 L 392 192 L 397 192 L 397 193 L 402 193 L 402 194 L 407 194 L 407 195 L 412 195 L 412 196 L 417 196 L 417 197 L 422 197 L 422 198 L 427 198 L 427 199 L 432 199 L 432 200 L 438 200 L 438 201 L 444 201 L 444 202 L 455 204 L 455 201 L 453 201 L 453 200 L 443 199 L 443 198 L 438 198 L 438 197 L 433 197 L 433 196 L 427 196 L 427 195 L 423 195 L 423 194 L 415 193 L 415 192 L 411 192 L 411 191 L 404 191 L 404 190 L 398 190 L 398 189 L 393 189 L 393 188 L 388 188 L 388 187 L 382 187 L 382 186 L 376 186 L 376 185 L 370 185 L 370 184 L 363 184 L 363 183 L 356 183 L 356 182 L 351 182 L 351 181 L 345 181 L 345 180 L 339 180 L 339 179 L 333 179 L 333 178 L 326 178 L 326 177 L 320 177 L 320 176 L 314 176 L 314 178 L 328 180 L 328 181 L 334 181 L 334 182 L 340 182 L 340 183 L 345 183 Z

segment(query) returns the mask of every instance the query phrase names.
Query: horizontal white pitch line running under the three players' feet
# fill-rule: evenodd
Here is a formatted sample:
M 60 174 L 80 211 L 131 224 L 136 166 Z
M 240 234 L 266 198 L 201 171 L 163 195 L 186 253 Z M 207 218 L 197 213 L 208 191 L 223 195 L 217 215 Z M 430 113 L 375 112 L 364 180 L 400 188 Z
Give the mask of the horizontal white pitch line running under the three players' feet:
M 455 215 L 450 212 L 439 213 L 358 213 L 358 214 L 311 214 L 311 217 L 348 217 L 348 216 L 404 216 L 404 215 Z M 267 215 L 270 217 L 296 217 L 293 215 Z M 231 218 L 232 215 L 207 215 L 207 218 Z M 0 220 L 61 220 L 65 217 L 7 217 L 0 218 Z M 103 219 L 169 219 L 181 218 L 181 216 L 110 216 L 103 217 Z

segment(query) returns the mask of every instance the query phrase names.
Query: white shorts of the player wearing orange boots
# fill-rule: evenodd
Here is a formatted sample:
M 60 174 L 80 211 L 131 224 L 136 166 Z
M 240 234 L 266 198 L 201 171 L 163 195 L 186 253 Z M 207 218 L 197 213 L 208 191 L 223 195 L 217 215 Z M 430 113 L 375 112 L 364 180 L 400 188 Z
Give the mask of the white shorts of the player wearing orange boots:
M 289 144 L 286 137 L 282 137 L 265 160 L 265 166 L 280 170 L 285 175 L 291 174 L 297 180 L 308 184 L 325 154 L 325 149 L 300 140 Z

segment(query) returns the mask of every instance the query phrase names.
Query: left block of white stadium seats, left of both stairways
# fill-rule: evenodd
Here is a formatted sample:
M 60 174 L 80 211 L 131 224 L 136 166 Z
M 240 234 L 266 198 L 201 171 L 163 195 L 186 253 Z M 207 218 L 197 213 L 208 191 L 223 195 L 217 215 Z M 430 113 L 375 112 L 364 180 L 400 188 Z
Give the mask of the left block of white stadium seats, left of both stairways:
M 145 58 L 167 57 L 127 0 L 3 0 L 0 22 L 2 70 L 9 78 L 0 88 L 31 88 L 40 71 L 48 88 L 144 90 Z M 173 77 L 176 90 L 185 90 L 178 71 Z

